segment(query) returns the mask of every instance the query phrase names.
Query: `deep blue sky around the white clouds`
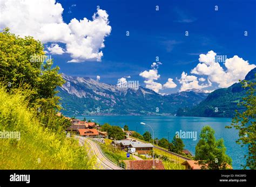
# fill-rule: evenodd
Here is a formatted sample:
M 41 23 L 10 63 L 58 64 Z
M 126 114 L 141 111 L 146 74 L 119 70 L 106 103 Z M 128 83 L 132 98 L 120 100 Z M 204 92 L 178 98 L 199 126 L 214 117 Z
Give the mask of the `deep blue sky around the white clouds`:
M 105 47 L 99 49 L 103 52 L 101 62 L 90 60 L 68 63 L 72 59 L 69 53 L 52 54 L 55 64 L 60 67 L 60 72 L 70 76 L 96 79 L 99 75 L 100 82 L 111 84 L 116 84 L 118 78 L 131 76 L 126 80 L 138 80 L 145 87 L 144 81 L 149 79 L 139 74 L 145 70 L 149 71 L 151 64 L 156 62 L 156 56 L 159 56 L 162 64 L 157 69 L 157 75 L 160 77 L 153 81 L 164 85 L 168 78 L 172 78 L 177 85 L 175 88 L 159 90 L 159 93 L 171 93 L 180 90 L 182 83 L 176 77 L 180 79 L 183 71 L 188 76 L 205 78 L 212 83 L 201 89 L 220 88 L 220 82 L 212 78 L 216 74 L 211 77 L 203 73 L 197 75 L 191 73 L 199 63 L 200 54 L 214 51 L 217 55 L 227 55 L 227 58 L 238 55 L 248 63 L 255 64 L 255 1 L 63 0 L 57 2 L 64 9 L 62 17 L 66 24 L 73 18 L 92 20 L 98 5 L 109 15 L 111 26 L 110 34 L 104 38 Z M 215 5 L 218 6 L 218 11 L 214 10 Z M 126 31 L 130 32 L 129 36 L 126 36 Z M 185 36 L 185 31 L 188 31 L 188 36 Z M 248 32 L 246 37 L 245 31 Z M 46 46 L 52 42 L 53 40 L 49 40 Z M 62 42 L 56 43 L 65 49 Z M 220 66 L 227 73 L 224 63 L 220 63 Z M 241 67 L 238 69 L 243 68 L 242 63 L 239 66 Z M 244 76 L 248 69 L 252 69 L 252 66 L 236 76 Z M 234 72 L 236 71 L 233 70 Z M 208 84 L 207 81 L 204 84 Z M 230 85 L 230 83 L 222 85 Z

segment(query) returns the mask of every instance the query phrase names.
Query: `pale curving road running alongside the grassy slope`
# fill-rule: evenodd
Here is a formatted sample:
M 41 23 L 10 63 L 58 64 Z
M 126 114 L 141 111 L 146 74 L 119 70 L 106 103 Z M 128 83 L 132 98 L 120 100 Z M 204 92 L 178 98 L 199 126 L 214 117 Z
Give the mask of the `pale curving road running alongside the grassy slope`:
M 116 166 L 114 163 L 112 163 L 102 154 L 96 142 L 82 136 L 75 136 L 75 138 L 79 140 L 80 145 L 84 146 L 84 143 L 86 141 L 87 145 L 90 146 L 90 154 L 95 155 L 97 157 L 97 163 L 98 163 L 97 169 L 114 169 L 114 170 L 122 169 Z

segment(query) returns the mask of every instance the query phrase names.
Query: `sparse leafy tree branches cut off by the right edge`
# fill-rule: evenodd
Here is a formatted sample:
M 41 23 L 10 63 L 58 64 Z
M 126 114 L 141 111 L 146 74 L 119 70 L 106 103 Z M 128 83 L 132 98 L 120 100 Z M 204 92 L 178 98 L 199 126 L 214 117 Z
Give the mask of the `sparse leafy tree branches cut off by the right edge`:
M 255 74 L 256 76 L 256 74 Z M 240 81 L 243 88 L 247 88 L 247 96 L 242 98 L 243 102 L 238 103 L 238 106 L 244 106 L 245 111 L 235 111 L 235 116 L 232 119 L 231 126 L 239 130 L 239 139 L 236 141 L 242 147 L 248 146 L 248 154 L 245 155 L 246 164 L 244 169 L 256 169 L 256 96 L 255 82 Z

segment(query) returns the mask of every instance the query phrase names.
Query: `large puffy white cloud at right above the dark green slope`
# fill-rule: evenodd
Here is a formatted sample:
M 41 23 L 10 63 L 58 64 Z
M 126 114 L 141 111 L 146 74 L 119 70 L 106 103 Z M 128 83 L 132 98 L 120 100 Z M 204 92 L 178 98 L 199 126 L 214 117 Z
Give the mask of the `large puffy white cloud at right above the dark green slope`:
M 224 67 L 215 62 L 217 54 L 213 51 L 199 55 L 199 62 L 197 66 L 191 70 L 192 74 L 206 75 L 212 82 L 218 84 L 220 88 L 230 87 L 232 84 L 243 80 L 246 74 L 255 68 L 254 64 L 249 64 L 248 61 L 243 60 L 241 57 L 234 55 L 230 59 L 226 59 Z

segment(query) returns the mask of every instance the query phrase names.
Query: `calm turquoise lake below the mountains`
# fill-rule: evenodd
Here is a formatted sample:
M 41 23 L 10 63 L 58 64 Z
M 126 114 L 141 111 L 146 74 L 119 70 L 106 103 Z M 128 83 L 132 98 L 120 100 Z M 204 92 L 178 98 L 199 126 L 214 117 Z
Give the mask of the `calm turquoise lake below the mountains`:
M 84 116 L 77 116 L 84 119 Z M 224 139 L 226 153 L 232 158 L 234 169 L 242 169 L 241 164 L 245 163 L 244 155 L 247 153 L 246 147 L 241 147 L 235 143 L 238 139 L 238 131 L 234 128 L 227 129 L 226 125 L 231 124 L 231 118 L 203 118 L 203 117 L 176 117 L 176 116 L 85 116 L 86 120 L 95 119 L 99 124 L 109 123 L 124 127 L 129 126 L 129 130 L 143 134 L 152 130 L 149 126 L 142 125 L 140 122 L 149 124 L 154 129 L 154 138 L 166 138 L 171 141 L 176 132 L 192 131 L 197 132 L 197 139 L 183 139 L 185 149 L 190 150 L 194 155 L 201 128 L 210 125 L 215 131 L 215 138 Z

